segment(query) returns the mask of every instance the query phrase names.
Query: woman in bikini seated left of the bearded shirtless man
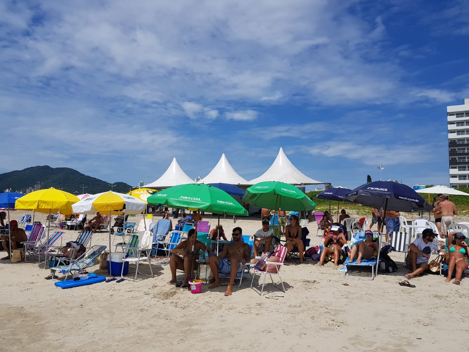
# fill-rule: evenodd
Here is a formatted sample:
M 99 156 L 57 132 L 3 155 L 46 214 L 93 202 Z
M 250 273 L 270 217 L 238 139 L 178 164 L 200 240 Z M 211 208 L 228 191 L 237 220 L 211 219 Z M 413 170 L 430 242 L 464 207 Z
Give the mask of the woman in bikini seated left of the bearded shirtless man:
M 188 287 L 189 275 L 192 275 L 191 266 L 193 269 L 197 268 L 196 260 L 199 259 L 199 251 L 207 251 L 210 253 L 210 248 L 202 242 L 197 241 L 196 230 L 190 229 L 187 233 L 187 239 L 182 241 L 171 251 L 171 258 L 169 258 L 171 280 L 167 283 L 176 282 L 176 269 L 179 269 L 184 270 L 184 282 L 182 283 L 182 287 Z

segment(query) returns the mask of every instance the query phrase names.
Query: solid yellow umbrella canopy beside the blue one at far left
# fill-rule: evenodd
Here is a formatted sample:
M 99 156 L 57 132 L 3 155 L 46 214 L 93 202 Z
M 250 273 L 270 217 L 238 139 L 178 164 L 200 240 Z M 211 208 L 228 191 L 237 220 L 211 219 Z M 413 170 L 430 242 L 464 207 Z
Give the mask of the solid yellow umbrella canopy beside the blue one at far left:
M 72 204 L 79 201 L 72 193 L 57 190 L 53 187 L 34 191 L 17 199 L 15 208 L 17 210 L 34 210 L 39 213 L 73 214 Z

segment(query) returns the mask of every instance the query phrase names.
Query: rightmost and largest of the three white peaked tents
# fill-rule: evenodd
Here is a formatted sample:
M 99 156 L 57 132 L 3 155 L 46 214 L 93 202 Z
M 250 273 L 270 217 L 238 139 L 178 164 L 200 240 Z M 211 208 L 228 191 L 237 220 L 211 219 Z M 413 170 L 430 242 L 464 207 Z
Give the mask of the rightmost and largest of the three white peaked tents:
M 324 184 L 324 182 L 313 180 L 304 175 L 295 165 L 288 160 L 287 155 L 280 147 L 279 154 L 271 167 L 265 173 L 254 180 L 250 180 L 250 184 L 257 184 L 264 181 L 279 181 L 286 184 L 304 185 L 304 184 Z

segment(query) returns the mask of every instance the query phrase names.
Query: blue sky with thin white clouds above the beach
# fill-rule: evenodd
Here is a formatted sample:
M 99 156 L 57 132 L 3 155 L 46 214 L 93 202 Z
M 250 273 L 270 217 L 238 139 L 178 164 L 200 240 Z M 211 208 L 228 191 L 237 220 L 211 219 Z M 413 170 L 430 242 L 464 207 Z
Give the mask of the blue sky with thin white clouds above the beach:
M 305 175 L 449 184 L 469 97 L 465 0 L 1 1 L 0 173 L 150 183 L 279 148 Z M 5 143 L 7 142 L 7 143 Z

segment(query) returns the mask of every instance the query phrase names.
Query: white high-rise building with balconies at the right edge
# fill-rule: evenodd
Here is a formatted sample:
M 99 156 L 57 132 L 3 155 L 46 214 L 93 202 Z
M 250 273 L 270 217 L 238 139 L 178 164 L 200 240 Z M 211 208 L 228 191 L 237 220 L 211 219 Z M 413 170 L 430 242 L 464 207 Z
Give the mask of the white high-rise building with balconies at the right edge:
M 449 184 L 468 187 L 469 184 L 469 98 L 464 105 L 446 107 L 448 115 Z

